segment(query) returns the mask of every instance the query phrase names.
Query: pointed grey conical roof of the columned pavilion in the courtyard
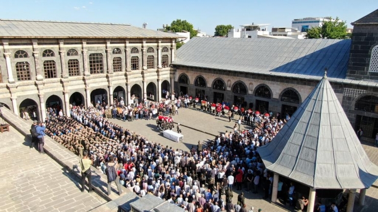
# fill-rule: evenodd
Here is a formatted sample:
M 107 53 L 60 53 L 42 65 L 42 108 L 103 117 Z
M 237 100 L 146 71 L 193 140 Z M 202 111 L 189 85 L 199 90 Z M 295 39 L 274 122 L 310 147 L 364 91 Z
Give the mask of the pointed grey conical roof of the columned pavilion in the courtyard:
M 326 76 L 257 151 L 268 170 L 315 189 L 369 188 L 378 177 Z

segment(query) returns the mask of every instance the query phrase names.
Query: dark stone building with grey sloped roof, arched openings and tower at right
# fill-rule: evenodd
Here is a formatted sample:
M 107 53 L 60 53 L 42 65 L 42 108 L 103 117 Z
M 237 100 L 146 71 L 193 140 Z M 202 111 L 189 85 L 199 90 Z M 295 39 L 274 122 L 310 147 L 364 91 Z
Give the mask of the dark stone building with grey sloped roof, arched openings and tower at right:
M 351 40 L 193 38 L 177 51 L 175 91 L 261 112 L 293 114 L 324 71 L 363 139 L 378 133 L 378 10 Z

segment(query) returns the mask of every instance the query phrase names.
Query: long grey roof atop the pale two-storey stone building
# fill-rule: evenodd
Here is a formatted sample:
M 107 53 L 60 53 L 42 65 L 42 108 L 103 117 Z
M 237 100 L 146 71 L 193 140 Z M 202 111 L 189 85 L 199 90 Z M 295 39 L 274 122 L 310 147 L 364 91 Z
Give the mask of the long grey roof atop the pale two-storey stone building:
M 0 19 L 0 38 L 178 38 L 129 24 Z

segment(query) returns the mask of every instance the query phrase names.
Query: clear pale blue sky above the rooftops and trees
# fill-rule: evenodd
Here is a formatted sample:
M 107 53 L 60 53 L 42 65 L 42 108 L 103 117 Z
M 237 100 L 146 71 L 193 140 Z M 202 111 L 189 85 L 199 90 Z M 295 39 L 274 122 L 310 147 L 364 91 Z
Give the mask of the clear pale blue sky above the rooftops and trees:
M 376 9 L 376 0 L 0 0 L 3 19 L 130 23 L 140 27 L 147 22 L 148 29 L 156 30 L 178 18 L 210 35 L 218 24 L 235 28 L 252 22 L 291 26 L 294 18 L 321 16 L 338 16 L 351 27 L 352 21 Z

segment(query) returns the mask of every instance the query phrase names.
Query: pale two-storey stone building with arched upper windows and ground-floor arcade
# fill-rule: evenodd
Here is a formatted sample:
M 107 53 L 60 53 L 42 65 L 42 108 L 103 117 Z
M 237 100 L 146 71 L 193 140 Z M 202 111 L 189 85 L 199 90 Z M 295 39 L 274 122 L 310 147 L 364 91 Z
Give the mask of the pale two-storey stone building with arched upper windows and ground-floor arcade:
M 44 120 L 50 106 L 66 114 L 69 104 L 160 99 L 174 85 L 177 38 L 127 24 L 0 19 L 0 102 Z

